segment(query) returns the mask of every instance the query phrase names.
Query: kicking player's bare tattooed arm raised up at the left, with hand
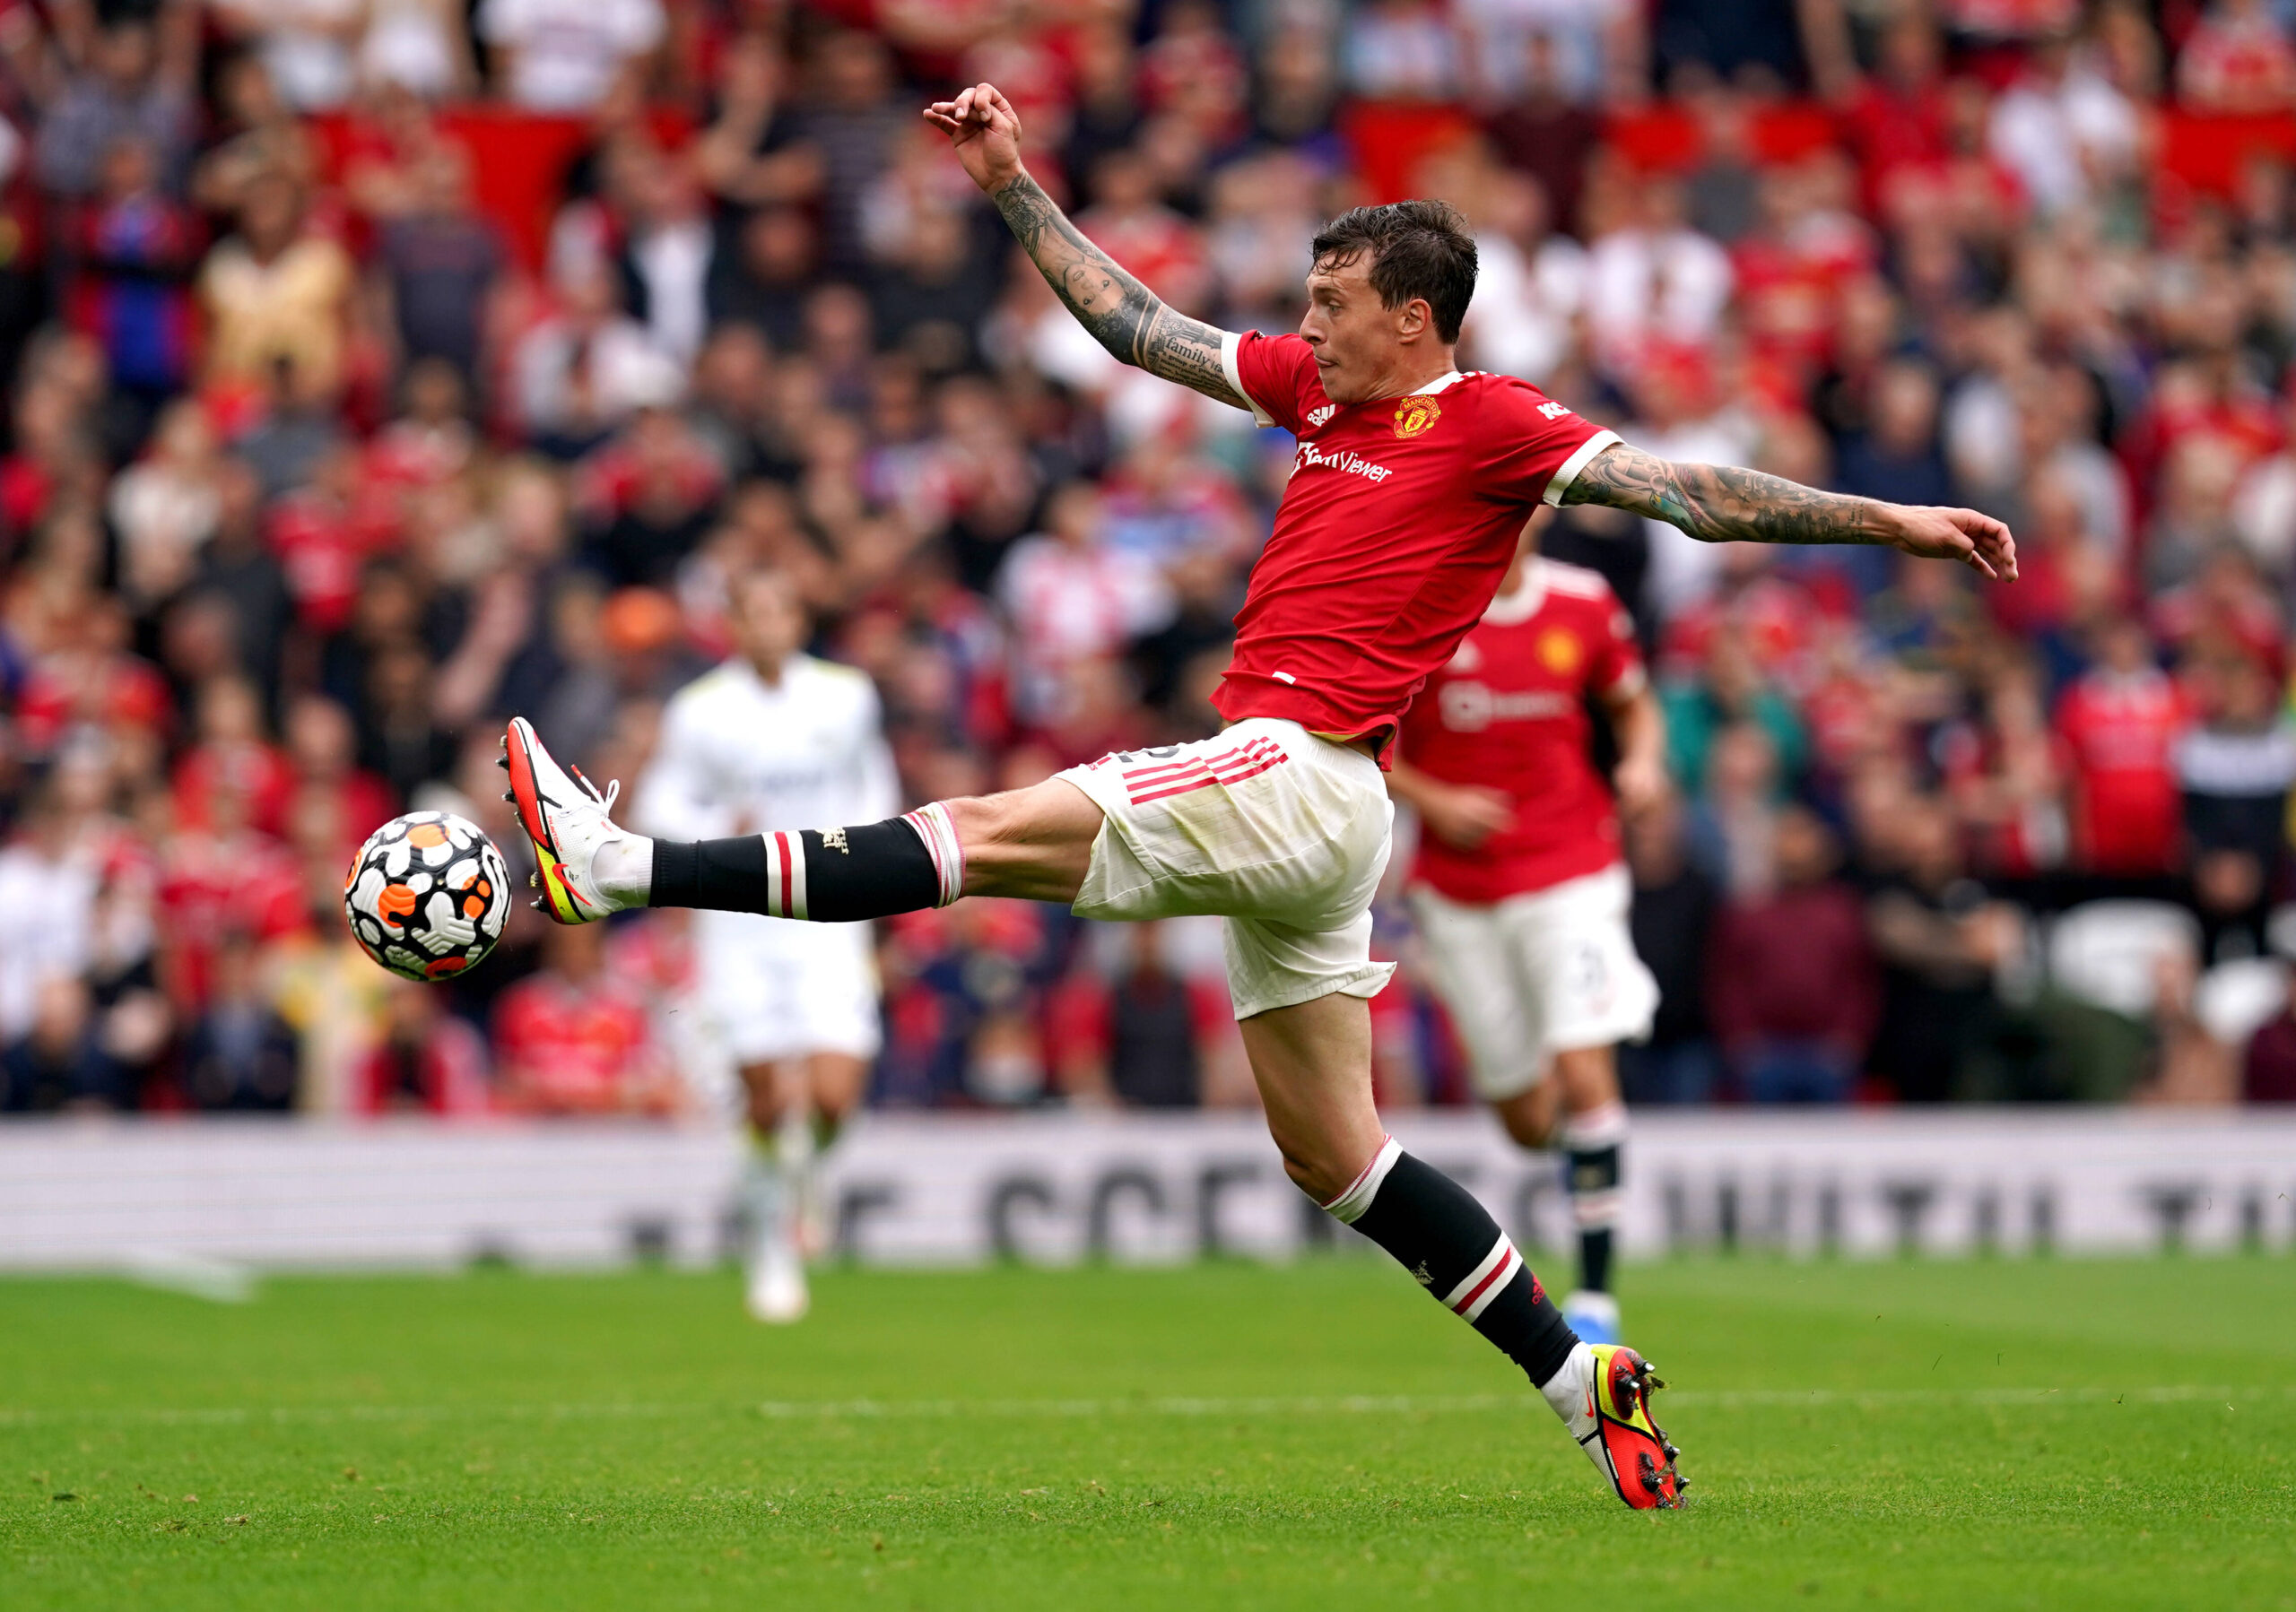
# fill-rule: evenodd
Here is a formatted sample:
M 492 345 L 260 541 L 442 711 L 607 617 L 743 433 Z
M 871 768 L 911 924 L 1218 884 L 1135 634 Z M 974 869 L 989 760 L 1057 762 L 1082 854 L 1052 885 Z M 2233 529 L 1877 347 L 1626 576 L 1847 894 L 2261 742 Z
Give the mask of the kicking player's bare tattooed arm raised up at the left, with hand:
M 1235 409 L 1249 409 L 1219 363 L 1224 331 L 1166 308 L 1114 257 L 1084 239 L 1019 161 L 1019 117 L 994 85 L 934 101 L 925 122 L 948 135 L 1038 273 L 1068 303 L 1093 340 L 1120 363 L 1192 386 Z

